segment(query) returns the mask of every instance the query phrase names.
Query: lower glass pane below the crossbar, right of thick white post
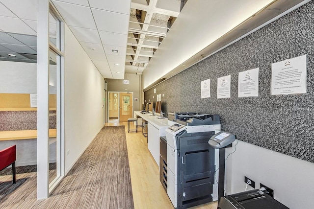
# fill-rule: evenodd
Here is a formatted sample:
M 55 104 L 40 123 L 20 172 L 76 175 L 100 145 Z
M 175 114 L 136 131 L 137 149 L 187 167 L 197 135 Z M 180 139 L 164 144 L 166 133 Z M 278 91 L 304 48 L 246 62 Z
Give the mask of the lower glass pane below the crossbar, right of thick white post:
M 59 69 L 60 57 L 50 50 L 50 65 L 49 65 L 49 183 L 52 183 L 59 175 L 57 167 L 59 163 L 57 161 L 57 145 L 59 140 L 57 139 L 58 129 L 58 115 L 59 110 L 58 101 L 58 69 Z

